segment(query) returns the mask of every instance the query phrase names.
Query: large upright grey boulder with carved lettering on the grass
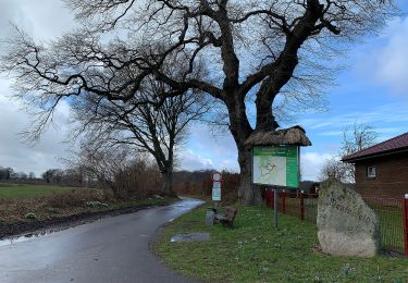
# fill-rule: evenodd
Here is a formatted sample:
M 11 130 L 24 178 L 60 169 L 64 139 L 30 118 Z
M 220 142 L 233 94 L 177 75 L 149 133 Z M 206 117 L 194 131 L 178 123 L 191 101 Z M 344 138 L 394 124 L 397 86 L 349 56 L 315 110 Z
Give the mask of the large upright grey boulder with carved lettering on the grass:
M 375 212 L 359 194 L 337 180 L 327 180 L 320 186 L 317 224 L 323 253 L 373 257 L 380 249 Z

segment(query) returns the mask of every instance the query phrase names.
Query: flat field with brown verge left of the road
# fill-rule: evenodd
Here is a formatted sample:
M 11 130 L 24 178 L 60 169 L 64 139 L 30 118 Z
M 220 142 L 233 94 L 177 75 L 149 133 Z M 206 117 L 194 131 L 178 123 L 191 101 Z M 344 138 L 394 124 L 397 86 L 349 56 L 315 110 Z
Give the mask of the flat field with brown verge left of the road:
M 139 206 L 163 205 L 175 198 L 129 196 L 116 198 L 109 189 L 60 187 L 54 185 L 0 184 L 0 236 L 5 226 L 22 222 L 49 221 L 76 214 Z

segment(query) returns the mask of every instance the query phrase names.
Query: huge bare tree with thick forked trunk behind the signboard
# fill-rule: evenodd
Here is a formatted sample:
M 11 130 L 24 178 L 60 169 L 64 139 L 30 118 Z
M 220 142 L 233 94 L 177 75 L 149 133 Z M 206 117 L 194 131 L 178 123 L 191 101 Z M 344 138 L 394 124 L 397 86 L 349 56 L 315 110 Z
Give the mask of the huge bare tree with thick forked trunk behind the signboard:
M 0 69 L 16 75 L 20 97 L 41 107 L 36 133 L 70 96 L 91 93 L 110 101 L 146 103 L 136 90 L 150 75 L 172 89 L 160 96 L 159 104 L 198 89 L 225 106 L 238 150 L 239 197 L 247 205 L 261 201 L 250 184 L 247 138 L 279 126 L 279 103 L 314 106 L 319 86 L 330 82 L 325 63 L 331 56 L 379 30 L 394 11 L 392 0 L 65 2 L 83 28 L 49 45 L 20 32 L 2 58 Z M 182 65 L 182 77 L 163 72 L 174 57 L 189 61 Z M 207 77 L 195 76 L 201 61 L 210 71 Z M 248 119 L 251 108 L 255 126 Z

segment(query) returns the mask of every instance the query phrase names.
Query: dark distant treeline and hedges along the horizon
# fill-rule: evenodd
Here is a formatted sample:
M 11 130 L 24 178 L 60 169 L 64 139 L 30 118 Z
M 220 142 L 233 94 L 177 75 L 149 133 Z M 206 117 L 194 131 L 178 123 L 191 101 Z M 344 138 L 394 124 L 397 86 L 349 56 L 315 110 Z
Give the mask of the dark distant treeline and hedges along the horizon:
M 112 179 L 101 176 L 88 167 L 73 167 L 69 169 L 49 169 L 36 177 L 34 173 L 15 172 L 12 168 L 0 167 L 0 182 L 10 183 L 37 183 L 73 187 L 99 187 L 107 186 L 116 190 L 116 195 L 127 194 L 138 186 L 144 189 L 160 193 L 153 187 L 160 188 L 160 173 L 150 164 L 138 160 L 126 168 L 116 168 Z M 106 170 L 103 170 L 106 171 Z M 178 195 L 211 196 L 213 170 L 176 171 L 173 177 L 173 189 Z M 222 172 L 222 197 L 226 201 L 235 201 L 239 186 L 239 174 L 228 171 Z M 132 187 L 132 188 L 131 188 Z M 123 190 L 123 192 L 122 192 Z M 141 188 L 137 188 L 138 192 Z

